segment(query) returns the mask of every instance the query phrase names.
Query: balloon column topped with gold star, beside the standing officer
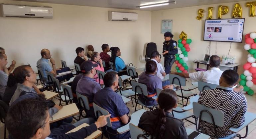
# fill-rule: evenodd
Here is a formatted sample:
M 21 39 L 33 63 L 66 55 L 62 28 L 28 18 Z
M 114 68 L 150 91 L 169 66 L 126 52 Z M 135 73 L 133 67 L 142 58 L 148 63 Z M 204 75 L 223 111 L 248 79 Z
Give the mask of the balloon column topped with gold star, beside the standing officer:
M 192 40 L 187 39 L 187 34 L 182 31 L 178 40 L 178 54 L 175 55 L 175 64 L 177 65 L 175 69 L 177 72 L 188 73 L 187 61 L 189 60 L 188 52 L 190 51 L 189 45 L 191 42 Z

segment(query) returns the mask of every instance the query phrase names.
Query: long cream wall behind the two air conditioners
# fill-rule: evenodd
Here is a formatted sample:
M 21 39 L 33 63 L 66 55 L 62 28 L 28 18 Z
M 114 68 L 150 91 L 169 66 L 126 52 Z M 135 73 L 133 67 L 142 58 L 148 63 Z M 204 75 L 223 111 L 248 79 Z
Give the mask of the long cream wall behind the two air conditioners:
M 36 70 L 40 51 L 47 48 L 56 67 L 61 67 L 61 59 L 67 66 L 74 67 L 76 47 L 85 48 L 91 44 L 95 51 L 101 52 L 101 45 L 107 43 L 121 49 L 121 58 L 126 64 L 133 63 L 138 68 L 145 66 L 145 44 L 151 39 L 150 11 L 10 0 L 0 0 L 0 3 L 51 6 L 54 9 L 53 19 L 0 17 L 0 47 L 5 48 L 9 64 L 12 60 L 17 66 L 29 63 Z M 138 20 L 108 21 L 108 11 L 137 12 Z

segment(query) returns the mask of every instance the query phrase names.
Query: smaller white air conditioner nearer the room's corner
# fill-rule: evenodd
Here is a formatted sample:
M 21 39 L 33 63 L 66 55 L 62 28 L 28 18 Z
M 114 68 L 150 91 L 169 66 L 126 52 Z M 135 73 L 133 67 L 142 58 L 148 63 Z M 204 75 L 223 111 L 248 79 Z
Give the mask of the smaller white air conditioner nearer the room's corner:
M 113 12 L 108 11 L 108 21 L 136 21 L 137 13 Z

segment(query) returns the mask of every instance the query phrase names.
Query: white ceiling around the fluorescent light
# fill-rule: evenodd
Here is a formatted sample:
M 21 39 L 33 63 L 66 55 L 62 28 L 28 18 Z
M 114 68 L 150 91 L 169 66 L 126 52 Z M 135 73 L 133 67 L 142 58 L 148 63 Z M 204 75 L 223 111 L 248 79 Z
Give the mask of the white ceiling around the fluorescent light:
M 176 1 L 176 4 L 169 4 L 166 6 L 142 8 L 142 9 L 136 8 L 136 6 L 167 2 L 168 0 L 18 0 L 18 1 L 157 11 L 157 10 L 191 7 L 191 6 L 208 5 L 208 4 L 238 2 L 238 1 L 244 1 L 244 0 L 169 0 L 169 1 Z

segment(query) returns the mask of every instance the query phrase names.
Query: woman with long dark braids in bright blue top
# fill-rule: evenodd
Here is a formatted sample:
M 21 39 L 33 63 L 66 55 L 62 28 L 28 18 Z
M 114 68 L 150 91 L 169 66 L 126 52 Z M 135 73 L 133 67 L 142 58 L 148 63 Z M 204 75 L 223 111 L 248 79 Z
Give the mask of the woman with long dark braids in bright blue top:
M 126 70 L 126 66 L 124 64 L 124 61 L 120 58 L 121 51 L 118 47 L 111 47 L 111 59 L 110 61 L 113 62 L 114 70 L 120 71 L 120 70 Z M 127 71 L 118 72 L 118 76 L 127 74 Z

